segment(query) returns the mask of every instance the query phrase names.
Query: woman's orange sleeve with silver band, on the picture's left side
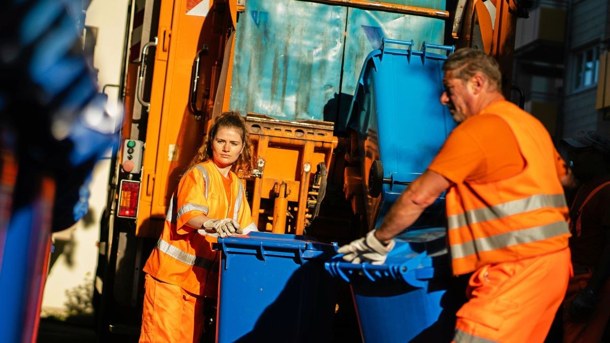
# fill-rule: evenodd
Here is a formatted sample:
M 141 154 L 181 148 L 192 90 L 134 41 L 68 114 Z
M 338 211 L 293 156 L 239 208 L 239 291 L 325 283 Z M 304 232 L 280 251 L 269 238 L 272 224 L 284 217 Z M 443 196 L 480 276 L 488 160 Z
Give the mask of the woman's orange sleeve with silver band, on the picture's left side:
M 206 180 L 197 168 L 192 168 L 180 179 L 176 204 L 178 209 L 176 231 L 179 234 L 193 231 L 194 228 L 187 226 L 186 223 L 198 215 L 207 215 L 209 212 L 209 204 L 204 196 L 205 185 Z

